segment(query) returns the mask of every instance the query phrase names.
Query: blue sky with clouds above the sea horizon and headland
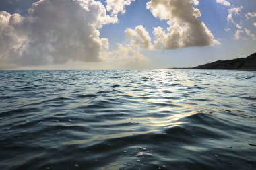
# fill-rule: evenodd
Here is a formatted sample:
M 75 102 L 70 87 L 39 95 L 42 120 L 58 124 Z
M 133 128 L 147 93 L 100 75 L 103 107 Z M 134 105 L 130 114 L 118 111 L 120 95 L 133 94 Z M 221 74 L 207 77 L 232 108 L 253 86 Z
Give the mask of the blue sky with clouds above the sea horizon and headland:
M 0 1 L 0 69 L 193 67 L 255 47 L 255 0 Z

